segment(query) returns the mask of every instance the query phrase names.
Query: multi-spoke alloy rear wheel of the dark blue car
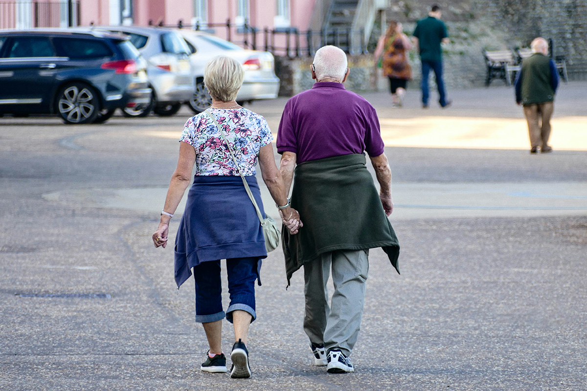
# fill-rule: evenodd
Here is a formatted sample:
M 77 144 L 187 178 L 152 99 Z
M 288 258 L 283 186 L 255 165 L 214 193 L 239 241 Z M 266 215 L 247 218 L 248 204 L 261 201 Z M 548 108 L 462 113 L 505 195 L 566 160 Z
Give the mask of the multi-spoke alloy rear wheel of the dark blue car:
M 59 90 L 57 112 L 66 124 L 89 124 L 98 116 L 96 91 L 85 83 L 69 83 Z

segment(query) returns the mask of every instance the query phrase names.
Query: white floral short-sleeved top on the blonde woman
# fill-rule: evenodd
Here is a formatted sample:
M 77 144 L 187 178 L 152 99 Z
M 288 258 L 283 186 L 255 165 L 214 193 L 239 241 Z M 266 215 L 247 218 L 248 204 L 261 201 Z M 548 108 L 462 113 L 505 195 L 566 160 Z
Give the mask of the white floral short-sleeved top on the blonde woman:
M 224 130 L 243 175 L 255 175 L 259 149 L 271 144 L 273 135 L 262 115 L 246 108 L 212 108 L 218 125 Z M 206 113 L 194 115 L 181 134 L 180 141 L 195 149 L 195 175 L 239 175 L 222 134 Z

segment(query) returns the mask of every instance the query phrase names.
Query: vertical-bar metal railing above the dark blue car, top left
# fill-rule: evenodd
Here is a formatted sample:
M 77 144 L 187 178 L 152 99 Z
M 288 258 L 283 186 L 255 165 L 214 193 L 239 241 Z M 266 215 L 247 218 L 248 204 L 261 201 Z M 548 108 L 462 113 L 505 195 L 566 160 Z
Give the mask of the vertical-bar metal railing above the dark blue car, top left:
M 1 1 L 0 29 L 72 27 L 80 20 L 80 0 Z

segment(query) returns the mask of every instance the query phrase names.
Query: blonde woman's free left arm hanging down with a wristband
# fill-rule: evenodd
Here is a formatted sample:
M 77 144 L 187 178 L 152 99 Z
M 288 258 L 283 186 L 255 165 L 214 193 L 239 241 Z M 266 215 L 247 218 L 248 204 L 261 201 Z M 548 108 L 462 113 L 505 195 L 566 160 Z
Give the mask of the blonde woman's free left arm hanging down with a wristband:
M 181 198 L 185 193 L 185 189 L 190 185 L 191 171 L 195 163 L 195 149 L 187 142 L 180 142 L 180 157 L 177 160 L 177 168 L 171 176 L 169 188 L 167 189 L 167 197 L 165 199 L 165 206 L 163 210 L 173 215 L 176 212 L 177 205 L 179 205 Z M 153 234 L 153 243 L 155 247 L 167 245 L 167 235 L 169 233 L 170 216 L 161 215 L 161 221 L 156 232 Z

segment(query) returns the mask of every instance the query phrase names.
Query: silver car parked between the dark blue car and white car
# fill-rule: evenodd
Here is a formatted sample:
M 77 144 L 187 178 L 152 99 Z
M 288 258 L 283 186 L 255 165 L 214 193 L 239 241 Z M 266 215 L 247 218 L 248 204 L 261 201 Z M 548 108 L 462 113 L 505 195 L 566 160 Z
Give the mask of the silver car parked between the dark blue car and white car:
M 95 28 L 121 32 L 130 36 L 130 42 L 147 60 L 147 77 L 153 89 L 151 106 L 124 109 L 131 117 L 149 115 L 151 109 L 158 115 L 173 115 L 182 103 L 194 95 L 195 79 L 191 69 L 190 47 L 175 31 L 156 27 L 107 26 Z

